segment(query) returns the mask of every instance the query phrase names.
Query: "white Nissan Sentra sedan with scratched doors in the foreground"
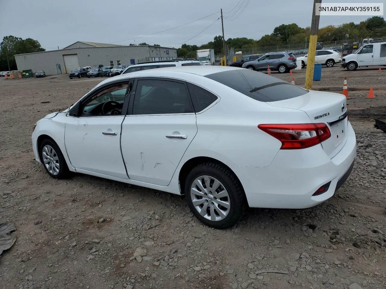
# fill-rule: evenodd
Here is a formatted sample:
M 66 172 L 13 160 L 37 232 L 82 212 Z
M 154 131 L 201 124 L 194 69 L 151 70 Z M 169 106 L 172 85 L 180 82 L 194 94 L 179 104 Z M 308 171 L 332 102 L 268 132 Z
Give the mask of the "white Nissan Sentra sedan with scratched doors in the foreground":
M 32 146 L 54 178 L 76 172 L 183 194 L 218 229 L 240 220 L 245 206 L 324 202 L 356 156 L 342 94 L 223 66 L 106 79 L 39 120 Z

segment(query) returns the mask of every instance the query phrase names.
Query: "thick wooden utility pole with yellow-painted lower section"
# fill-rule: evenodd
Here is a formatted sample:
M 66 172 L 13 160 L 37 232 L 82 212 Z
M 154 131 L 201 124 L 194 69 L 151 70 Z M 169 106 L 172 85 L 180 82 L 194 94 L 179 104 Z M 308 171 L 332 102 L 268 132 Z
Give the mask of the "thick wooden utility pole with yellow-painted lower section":
M 314 0 L 312 8 L 312 22 L 311 22 L 311 35 L 308 41 L 308 56 L 307 56 L 307 69 L 306 69 L 306 89 L 312 89 L 313 72 L 315 64 L 316 44 L 318 42 L 318 30 L 319 30 L 319 18 L 320 15 L 316 15 L 316 4 L 322 3 L 322 0 Z

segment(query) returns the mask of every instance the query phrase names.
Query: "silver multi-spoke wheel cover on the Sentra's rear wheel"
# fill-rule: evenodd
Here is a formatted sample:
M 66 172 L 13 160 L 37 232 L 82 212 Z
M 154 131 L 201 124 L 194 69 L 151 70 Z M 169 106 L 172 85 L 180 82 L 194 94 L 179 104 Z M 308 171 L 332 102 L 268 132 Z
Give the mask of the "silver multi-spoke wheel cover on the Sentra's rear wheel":
M 229 214 L 229 194 L 212 176 L 196 178 L 190 188 L 190 198 L 197 212 L 207 220 L 218 222 Z

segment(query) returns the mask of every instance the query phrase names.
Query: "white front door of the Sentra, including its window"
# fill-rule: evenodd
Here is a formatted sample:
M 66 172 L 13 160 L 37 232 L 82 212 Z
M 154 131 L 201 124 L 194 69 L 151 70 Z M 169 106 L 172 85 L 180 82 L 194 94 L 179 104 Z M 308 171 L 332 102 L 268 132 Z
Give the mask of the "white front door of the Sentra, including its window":
M 102 87 L 79 103 L 79 113 L 70 111 L 64 142 L 71 165 L 77 171 L 128 178 L 120 151 L 127 92 L 128 82 Z

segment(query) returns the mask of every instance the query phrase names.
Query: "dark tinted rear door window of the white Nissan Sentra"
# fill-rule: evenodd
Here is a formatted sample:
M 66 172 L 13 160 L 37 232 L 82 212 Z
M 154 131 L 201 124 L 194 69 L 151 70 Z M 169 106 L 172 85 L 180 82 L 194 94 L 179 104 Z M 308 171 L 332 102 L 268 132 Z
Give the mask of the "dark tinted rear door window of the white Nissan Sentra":
M 133 114 L 193 113 L 185 84 L 166 80 L 139 80 Z

